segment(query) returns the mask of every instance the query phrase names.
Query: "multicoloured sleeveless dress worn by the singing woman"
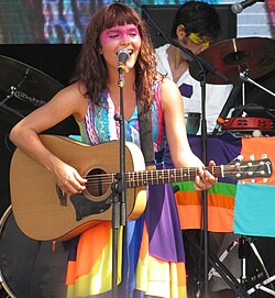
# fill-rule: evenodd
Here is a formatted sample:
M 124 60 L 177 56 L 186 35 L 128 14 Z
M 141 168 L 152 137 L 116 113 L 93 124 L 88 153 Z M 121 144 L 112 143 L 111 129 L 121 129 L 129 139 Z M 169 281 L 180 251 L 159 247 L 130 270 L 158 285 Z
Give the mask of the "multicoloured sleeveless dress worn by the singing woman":
M 164 143 L 161 81 L 154 85 L 152 128 L 154 150 Z M 119 139 L 116 109 L 106 91 L 103 108 L 88 106 L 79 123 L 82 142 L 95 145 Z M 140 144 L 138 107 L 125 121 L 127 141 Z M 185 298 L 185 254 L 177 208 L 169 184 L 150 186 L 144 213 L 119 229 L 118 297 Z M 67 298 L 112 297 L 112 224 L 103 221 L 70 241 Z

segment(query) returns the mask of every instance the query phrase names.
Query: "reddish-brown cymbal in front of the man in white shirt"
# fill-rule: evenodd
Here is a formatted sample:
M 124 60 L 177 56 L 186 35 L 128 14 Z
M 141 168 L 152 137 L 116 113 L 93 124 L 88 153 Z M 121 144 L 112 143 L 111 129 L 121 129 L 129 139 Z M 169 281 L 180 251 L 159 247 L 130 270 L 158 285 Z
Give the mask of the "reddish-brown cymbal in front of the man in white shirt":
M 235 84 L 241 73 L 251 79 L 262 77 L 275 69 L 275 40 L 267 37 L 240 37 L 219 42 L 198 55 L 213 69 L 228 78 L 228 82 L 207 73 L 208 84 Z M 199 79 L 201 69 L 196 60 L 190 63 L 190 75 Z

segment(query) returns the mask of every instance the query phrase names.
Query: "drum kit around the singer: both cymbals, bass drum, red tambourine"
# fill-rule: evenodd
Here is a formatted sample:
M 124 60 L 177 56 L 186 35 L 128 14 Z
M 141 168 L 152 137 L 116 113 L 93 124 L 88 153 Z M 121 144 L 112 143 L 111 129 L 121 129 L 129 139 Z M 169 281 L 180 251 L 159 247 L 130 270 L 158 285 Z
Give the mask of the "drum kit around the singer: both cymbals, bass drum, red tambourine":
M 228 78 L 227 84 L 239 80 L 274 93 L 255 79 L 275 69 L 275 41 L 262 37 L 232 38 L 210 46 L 199 54 L 215 69 Z M 0 55 L 0 119 L 15 124 L 33 110 L 45 104 L 63 86 L 46 74 L 15 59 Z M 200 79 L 199 64 L 190 64 L 190 74 Z M 207 82 L 221 85 L 224 81 L 207 74 Z M 232 107 L 231 107 L 232 108 Z M 199 121 L 194 115 L 193 121 Z M 253 122 L 253 128 L 251 128 Z M 194 125 L 191 123 L 191 125 Z M 196 125 L 196 130 L 198 125 Z M 227 119 L 223 130 L 272 130 L 271 121 L 245 117 Z M 26 238 L 16 227 L 11 207 L 0 221 L 0 283 L 2 290 L 12 298 L 65 297 L 67 250 L 58 243 L 55 252 L 52 243 L 36 242 Z M 54 293 L 53 293 L 54 291 Z

